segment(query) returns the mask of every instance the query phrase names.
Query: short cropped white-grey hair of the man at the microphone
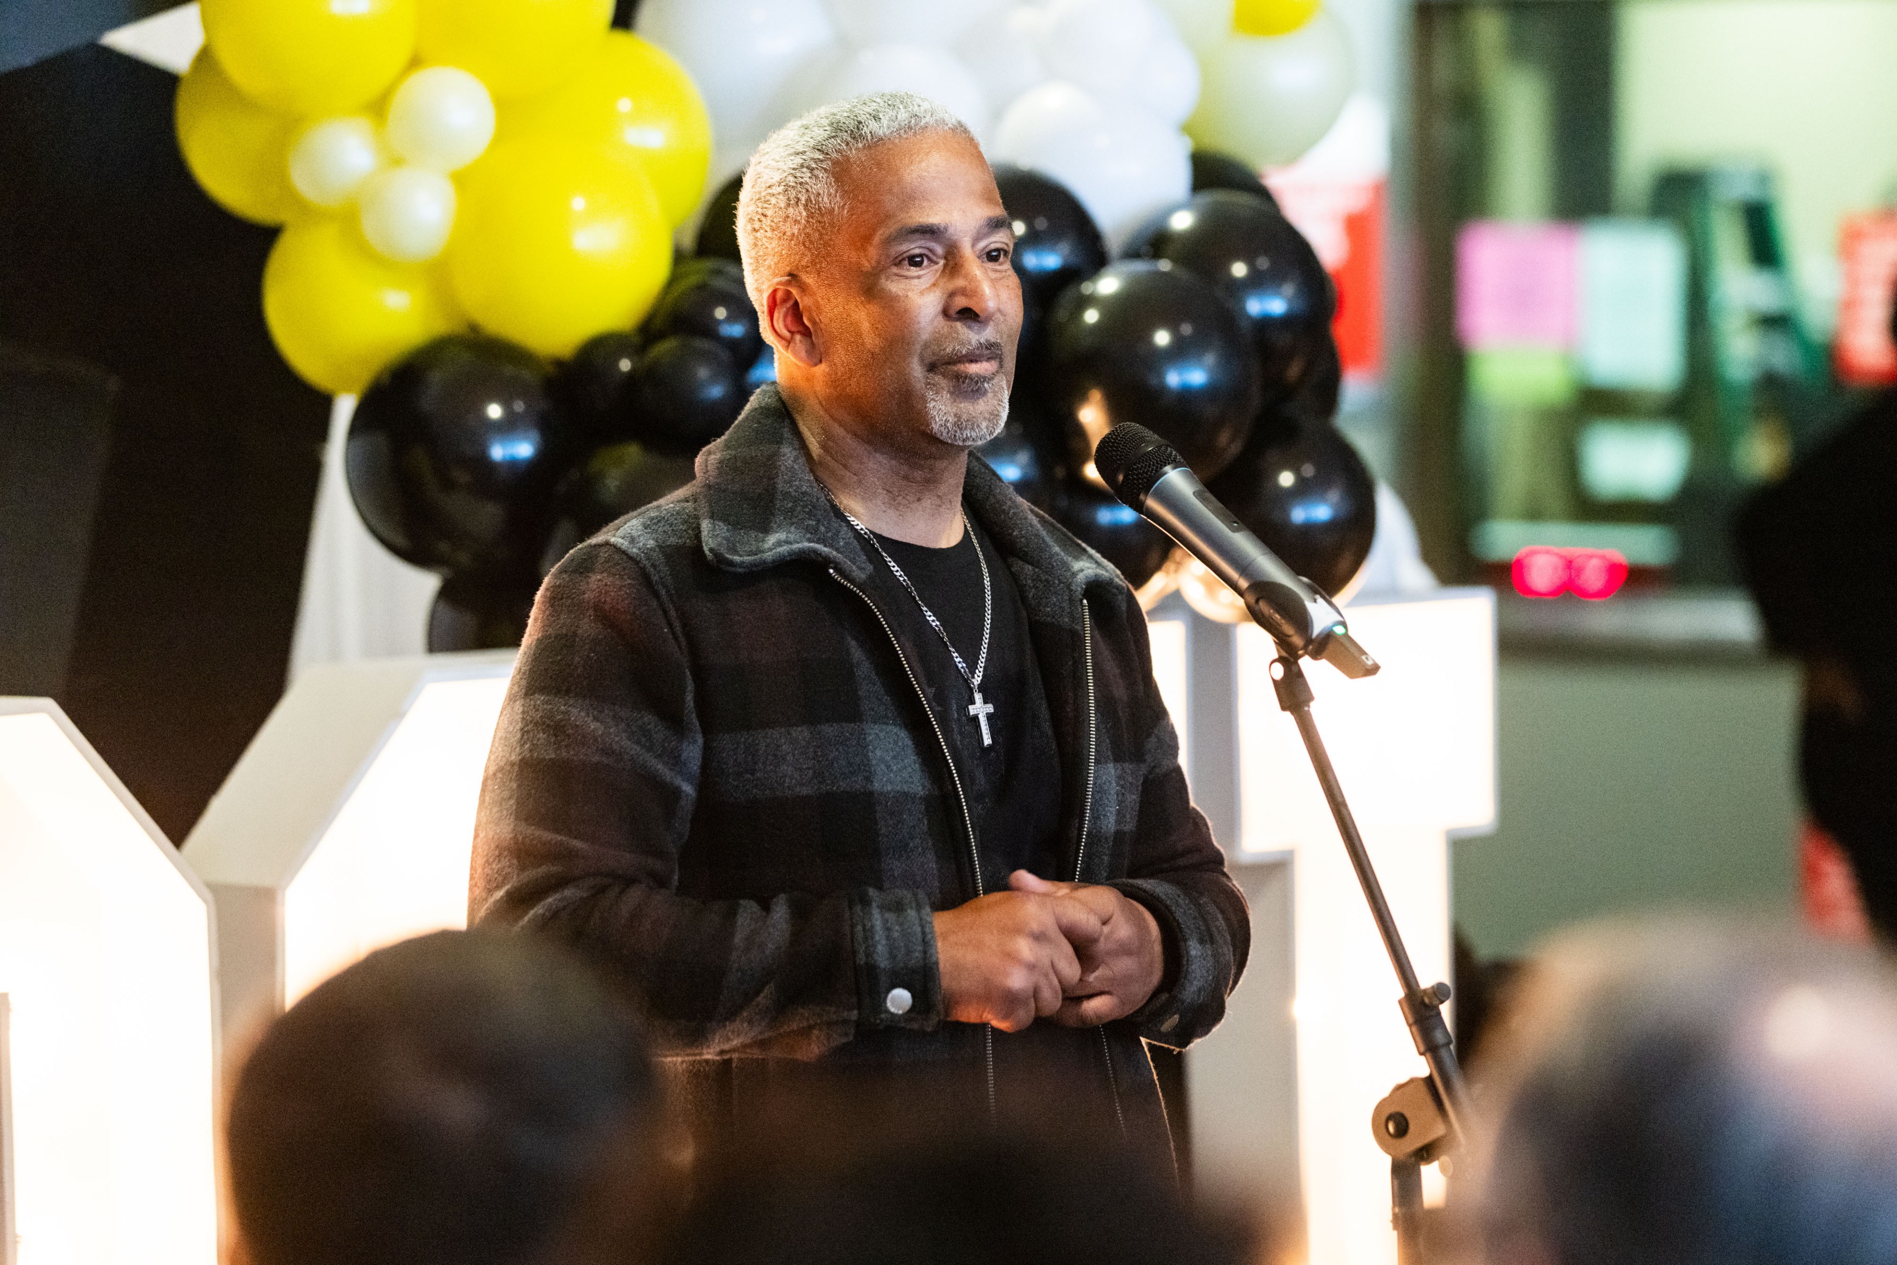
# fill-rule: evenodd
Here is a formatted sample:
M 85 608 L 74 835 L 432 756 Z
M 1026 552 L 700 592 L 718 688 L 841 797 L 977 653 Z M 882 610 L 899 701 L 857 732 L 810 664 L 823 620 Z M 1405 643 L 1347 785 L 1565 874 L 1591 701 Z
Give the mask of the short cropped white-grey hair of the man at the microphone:
M 791 119 L 757 146 L 738 193 L 738 254 L 744 288 L 761 317 L 764 288 L 791 271 L 802 233 L 844 209 L 831 174 L 837 163 L 930 131 L 975 140 L 962 119 L 928 97 L 869 93 Z

